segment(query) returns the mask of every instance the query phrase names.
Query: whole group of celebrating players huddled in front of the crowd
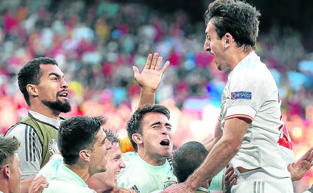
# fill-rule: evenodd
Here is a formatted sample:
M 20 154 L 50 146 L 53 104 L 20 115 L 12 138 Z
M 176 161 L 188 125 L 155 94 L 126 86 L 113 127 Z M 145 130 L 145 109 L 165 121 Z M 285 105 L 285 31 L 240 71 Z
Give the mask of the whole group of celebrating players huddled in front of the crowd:
M 170 111 L 154 104 L 170 65 L 161 68 L 158 53 L 141 73 L 133 66 L 140 100 L 125 141 L 105 116 L 60 117 L 71 111 L 64 73 L 51 58 L 28 62 L 18 74 L 28 116 L 0 136 L 0 192 L 292 193 L 313 165 L 313 147 L 294 160 L 277 85 L 255 53 L 259 16 L 240 1 L 209 5 L 204 51 L 230 72 L 214 136 L 177 150 Z

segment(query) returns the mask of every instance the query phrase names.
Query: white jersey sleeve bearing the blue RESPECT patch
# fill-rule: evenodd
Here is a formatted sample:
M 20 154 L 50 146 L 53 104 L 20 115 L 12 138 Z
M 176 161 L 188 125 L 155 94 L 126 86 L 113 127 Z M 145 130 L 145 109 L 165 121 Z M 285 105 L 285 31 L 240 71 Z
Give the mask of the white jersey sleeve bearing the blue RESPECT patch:
M 267 90 L 265 81 L 256 73 L 240 71 L 233 74 L 229 84 L 229 104 L 225 120 L 244 118 L 252 123 L 256 112 L 266 101 Z

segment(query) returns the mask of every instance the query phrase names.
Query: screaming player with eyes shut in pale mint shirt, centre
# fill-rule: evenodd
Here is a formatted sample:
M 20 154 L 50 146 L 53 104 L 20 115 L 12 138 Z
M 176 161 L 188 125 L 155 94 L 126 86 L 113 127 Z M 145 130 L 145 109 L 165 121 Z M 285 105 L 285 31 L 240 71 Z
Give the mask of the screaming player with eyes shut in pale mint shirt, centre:
M 127 122 L 128 137 L 135 152 L 122 154 L 126 165 L 117 186 L 148 193 L 177 183 L 169 158 L 173 142 L 170 112 L 162 105 L 143 105 Z

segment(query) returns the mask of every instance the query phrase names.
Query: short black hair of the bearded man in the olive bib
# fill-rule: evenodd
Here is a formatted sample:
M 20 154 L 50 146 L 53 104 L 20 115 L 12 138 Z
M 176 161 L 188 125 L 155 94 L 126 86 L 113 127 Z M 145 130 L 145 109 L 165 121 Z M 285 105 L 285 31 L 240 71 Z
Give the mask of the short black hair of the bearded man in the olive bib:
M 27 92 L 26 86 L 28 84 L 35 84 L 38 85 L 40 83 L 40 78 L 43 75 L 43 73 L 40 70 L 41 64 L 53 64 L 57 65 L 58 63 L 47 57 L 41 57 L 41 58 L 34 58 L 33 60 L 29 61 L 23 68 L 20 70 L 18 74 L 18 83 L 19 88 L 22 94 L 24 95 L 24 99 L 28 106 L 31 106 L 30 103 L 30 96 Z

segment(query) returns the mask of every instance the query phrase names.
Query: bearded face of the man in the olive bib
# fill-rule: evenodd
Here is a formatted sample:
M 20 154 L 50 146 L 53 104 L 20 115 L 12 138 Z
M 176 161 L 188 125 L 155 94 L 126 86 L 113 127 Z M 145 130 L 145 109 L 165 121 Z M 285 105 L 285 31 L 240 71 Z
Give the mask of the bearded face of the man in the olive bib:
M 37 88 L 40 101 L 52 110 L 70 112 L 71 105 L 68 101 L 68 83 L 64 74 L 57 65 L 41 64 L 42 76 Z

